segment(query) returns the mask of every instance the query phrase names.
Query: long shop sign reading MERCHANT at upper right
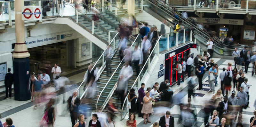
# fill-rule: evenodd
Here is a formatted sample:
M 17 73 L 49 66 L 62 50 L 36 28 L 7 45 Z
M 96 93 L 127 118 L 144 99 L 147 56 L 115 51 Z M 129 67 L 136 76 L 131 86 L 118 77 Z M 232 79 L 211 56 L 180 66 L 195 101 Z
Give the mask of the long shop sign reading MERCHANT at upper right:
M 196 18 L 196 19 L 197 19 L 197 23 L 244 25 L 243 19 L 225 19 L 225 18 Z

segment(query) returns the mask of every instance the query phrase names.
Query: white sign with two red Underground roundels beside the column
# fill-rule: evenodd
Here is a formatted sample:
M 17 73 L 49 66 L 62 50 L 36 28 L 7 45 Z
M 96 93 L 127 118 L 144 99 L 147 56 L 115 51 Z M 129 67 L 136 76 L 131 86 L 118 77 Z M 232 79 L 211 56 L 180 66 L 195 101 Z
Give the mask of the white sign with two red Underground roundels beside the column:
M 42 19 L 41 6 L 23 6 L 22 20 L 23 21 L 37 21 Z

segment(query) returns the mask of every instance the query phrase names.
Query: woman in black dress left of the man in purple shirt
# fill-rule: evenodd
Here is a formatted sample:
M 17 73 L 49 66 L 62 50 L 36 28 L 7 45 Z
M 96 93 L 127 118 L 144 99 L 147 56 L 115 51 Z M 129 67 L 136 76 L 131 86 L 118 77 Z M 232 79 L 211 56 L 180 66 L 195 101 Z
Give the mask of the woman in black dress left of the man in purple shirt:
M 129 115 L 137 111 L 137 104 L 135 103 L 138 96 L 135 94 L 135 89 L 131 88 L 130 93 L 128 94 L 128 100 L 131 102 L 131 109 L 129 109 Z

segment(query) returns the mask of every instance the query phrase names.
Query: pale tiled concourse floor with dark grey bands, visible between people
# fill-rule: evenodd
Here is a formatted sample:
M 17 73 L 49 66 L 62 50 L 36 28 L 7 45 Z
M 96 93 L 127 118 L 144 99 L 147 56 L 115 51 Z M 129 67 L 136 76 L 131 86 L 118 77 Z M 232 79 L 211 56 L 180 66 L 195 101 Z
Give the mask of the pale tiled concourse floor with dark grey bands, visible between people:
M 215 63 L 218 64 L 219 66 L 219 73 L 222 71 L 221 68 L 223 67 L 227 67 L 228 62 L 232 63 L 232 68 L 234 68 L 234 60 L 227 60 L 227 59 L 220 59 L 220 58 L 213 58 Z M 252 66 L 250 64 L 250 66 Z M 76 75 L 72 75 L 72 76 L 68 76 L 68 78 L 70 80 L 75 81 L 76 84 L 80 84 L 80 82 L 83 80 L 83 76 L 84 76 L 85 72 L 81 72 L 78 73 Z M 256 89 L 256 86 L 254 85 L 254 81 L 256 81 L 255 76 L 251 76 L 252 73 L 252 68 L 249 68 L 247 75 L 247 78 L 249 79 L 248 82 L 250 82 L 251 85 L 253 85 L 250 90 L 249 90 L 249 94 L 250 94 L 250 100 L 249 100 L 249 106 L 247 109 L 243 110 L 243 123 L 244 123 L 244 127 L 249 127 L 249 120 L 250 118 L 253 116 L 253 103 L 254 100 L 256 99 L 256 96 L 253 92 L 254 89 Z M 203 78 L 203 84 L 208 84 L 208 82 L 206 82 L 208 80 L 207 78 L 207 74 L 204 74 L 204 78 Z M 187 78 L 187 77 L 186 77 Z M 196 80 L 196 82 L 198 81 L 198 78 L 196 76 L 193 76 L 193 78 Z M 220 88 L 220 78 L 218 77 L 218 85 L 217 87 L 215 87 L 215 90 L 217 91 L 218 88 Z M 159 82 L 160 83 L 160 82 Z M 146 84 L 146 87 L 148 86 L 152 86 L 152 84 Z M 188 94 L 187 94 L 187 83 L 186 80 L 184 83 L 181 83 L 180 87 L 175 87 L 175 85 L 172 86 L 172 89 L 175 91 L 174 92 L 174 97 L 177 95 L 181 95 L 178 93 L 182 93 L 182 92 L 186 92 L 186 95 L 183 95 L 183 103 L 187 103 L 187 98 L 188 98 Z M 70 92 L 66 93 L 66 98 L 68 98 L 69 95 L 72 94 L 72 92 L 74 90 L 76 90 L 75 86 L 72 90 L 70 90 Z M 145 87 L 145 88 L 146 88 Z M 196 88 L 198 88 L 198 85 L 196 86 Z M 207 86 L 203 86 L 203 88 L 209 88 Z M 233 88 L 232 88 L 233 90 Z M 82 91 L 81 91 L 82 92 Z M 196 102 L 194 101 L 194 99 L 192 99 L 191 101 L 191 107 L 195 107 L 196 108 L 196 112 L 198 114 L 197 117 L 197 126 L 198 127 L 204 127 L 204 117 L 203 117 L 203 107 L 204 107 L 204 102 L 208 101 L 211 97 L 213 93 L 208 93 L 207 91 L 201 91 L 201 90 L 196 90 L 195 93 L 201 93 L 204 94 L 203 97 L 196 97 Z M 231 95 L 231 92 L 229 92 L 228 96 Z M 62 95 L 59 95 L 59 97 L 62 98 Z M 56 120 L 55 120 L 55 127 L 70 127 L 71 124 L 71 119 L 69 116 L 69 113 L 67 113 L 66 116 L 64 117 L 60 117 L 59 115 L 61 114 L 61 111 L 63 110 L 63 108 L 66 106 L 67 103 L 62 104 L 59 103 L 57 104 L 57 115 L 56 115 Z M 192 108 L 193 109 L 193 108 Z M 161 108 L 154 108 L 154 112 L 156 113 L 153 116 L 149 117 L 149 120 L 151 121 L 151 123 L 148 123 L 147 125 L 145 125 L 143 123 L 143 118 L 138 117 L 138 114 L 136 114 L 136 121 L 137 121 L 137 126 L 138 127 L 152 127 L 152 124 L 154 122 L 159 122 L 160 117 L 164 115 L 164 113 L 166 112 L 166 110 L 169 110 L 171 112 L 171 115 L 174 116 L 174 121 L 175 121 L 175 127 L 181 127 L 181 124 L 177 124 L 177 121 L 179 119 L 180 116 L 180 107 L 178 105 L 174 105 L 171 108 L 168 107 L 161 107 Z M 3 98 L 0 99 L 0 112 L 2 113 L 3 117 L 0 118 L 0 120 L 2 122 L 5 122 L 5 119 L 10 117 L 13 120 L 13 124 L 16 127 L 34 127 L 34 126 L 38 126 L 38 123 L 40 121 L 40 119 L 43 116 L 44 113 L 44 107 L 38 107 L 38 109 L 34 109 L 34 102 L 31 102 L 31 100 L 28 101 L 15 101 L 14 97 L 12 97 L 12 99 L 7 99 L 4 100 Z M 88 123 L 90 121 L 91 117 L 87 117 L 87 119 L 85 119 L 85 121 L 87 122 L 86 126 L 88 126 Z M 117 118 L 115 118 L 115 124 L 118 127 L 124 127 L 126 120 L 128 119 L 128 116 L 126 115 L 125 119 L 120 121 L 120 116 L 117 116 Z

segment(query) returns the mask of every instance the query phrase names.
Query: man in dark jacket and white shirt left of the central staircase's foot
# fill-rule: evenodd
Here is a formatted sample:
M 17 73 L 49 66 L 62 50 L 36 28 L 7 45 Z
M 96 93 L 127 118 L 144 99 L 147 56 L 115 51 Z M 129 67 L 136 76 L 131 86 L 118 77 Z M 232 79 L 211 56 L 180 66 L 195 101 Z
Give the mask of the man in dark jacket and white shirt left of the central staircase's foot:
M 80 100 L 77 97 L 76 91 L 68 98 L 68 109 L 70 111 L 72 127 L 76 124 L 76 119 L 78 116 L 78 107 Z

